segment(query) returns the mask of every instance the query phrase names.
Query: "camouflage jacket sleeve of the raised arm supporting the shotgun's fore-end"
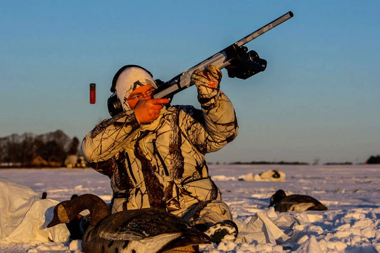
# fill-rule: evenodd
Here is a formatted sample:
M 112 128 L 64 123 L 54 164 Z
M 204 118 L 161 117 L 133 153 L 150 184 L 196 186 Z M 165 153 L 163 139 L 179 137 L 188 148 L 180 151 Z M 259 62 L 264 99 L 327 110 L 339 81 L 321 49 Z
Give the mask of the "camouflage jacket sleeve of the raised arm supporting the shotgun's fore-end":
M 183 126 L 190 141 L 202 153 L 215 152 L 238 135 L 238 121 L 234 107 L 227 96 L 219 91 L 211 100 L 202 103 L 202 110 L 186 107 Z

